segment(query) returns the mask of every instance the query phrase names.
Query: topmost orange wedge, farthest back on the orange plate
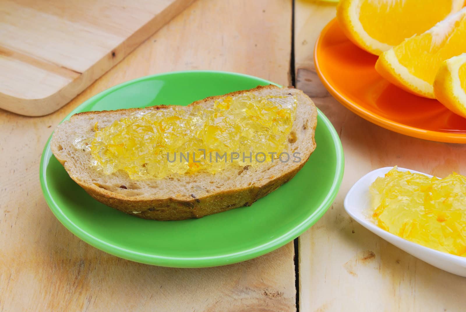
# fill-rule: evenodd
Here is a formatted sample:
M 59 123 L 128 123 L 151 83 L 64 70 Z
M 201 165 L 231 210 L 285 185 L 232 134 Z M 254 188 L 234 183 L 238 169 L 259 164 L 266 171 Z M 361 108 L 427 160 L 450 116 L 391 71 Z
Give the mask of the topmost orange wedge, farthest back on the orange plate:
M 336 17 L 349 40 L 380 55 L 464 5 L 465 0 L 340 0 Z

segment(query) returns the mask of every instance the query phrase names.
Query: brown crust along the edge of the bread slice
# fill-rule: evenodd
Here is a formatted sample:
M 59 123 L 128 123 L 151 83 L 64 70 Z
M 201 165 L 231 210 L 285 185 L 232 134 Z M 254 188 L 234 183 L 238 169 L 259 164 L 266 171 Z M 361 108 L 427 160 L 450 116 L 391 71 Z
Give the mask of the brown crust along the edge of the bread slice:
M 238 94 L 242 94 L 244 92 L 254 92 L 256 90 L 264 90 L 264 89 L 274 89 L 276 86 L 268 85 L 268 86 L 258 86 L 254 89 L 250 90 L 240 90 L 231 92 L 225 95 L 214 96 L 214 97 L 207 97 L 205 99 L 195 101 L 189 105 L 199 105 L 205 104 L 212 100 L 216 100 L 225 96 L 235 96 Z M 312 103 L 312 101 L 311 101 Z M 312 104 L 314 105 L 314 104 Z M 134 108 L 134 109 L 123 109 L 117 111 L 127 111 L 127 112 L 135 112 L 140 110 L 147 110 L 147 109 L 165 109 L 169 106 L 167 105 L 157 105 L 151 106 L 146 108 Z M 86 111 L 75 114 L 74 116 L 82 116 L 82 115 L 98 115 L 98 114 L 105 114 L 109 111 Z M 112 111 L 115 112 L 115 111 Z M 72 116 L 71 118 L 73 118 Z M 315 129 L 317 124 L 317 114 L 312 115 L 312 120 L 309 120 L 309 125 Z M 312 142 L 313 146 L 315 146 L 315 132 L 312 133 Z M 82 187 L 90 196 L 92 196 L 97 201 L 102 202 L 103 204 L 116 208 L 124 213 L 130 215 L 136 215 L 140 218 L 144 219 L 151 219 L 151 220 L 160 220 L 160 221 L 169 221 L 169 220 L 184 220 L 189 218 L 201 218 L 206 215 L 212 215 L 219 212 L 223 212 L 226 210 L 230 210 L 233 208 L 239 208 L 243 206 L 251 206 L 255 201 L 260 199 L 261 197 L 266 196 L 267 194 L 273 192 L 275 189 L 280 187 L 282 184 L 291 180 L 295 174 L 301 170 L 302 166 L 308 161 L 307 159 L 302 159 L 299 166 L 295 167 L 293 170 L 285 172 L 274 179 L 270 179 L 265 184 L 261 185 L 260 187 L 256 185 L 251 185 L 249 187 L 238 188 L 238 189 L 230 189 L 227 191 L 219 191 L 216 193 L 208 194 L 206 196 L 202 196 L 199 198 L 192 196 L 190 200 L 179 200 L 174 199 L 172 197 L 168 198 L 145 198 L 144 196 L 134 196 L 134 197 L 127 197 L 122 194 L 117 194 L 115 192 L 106 190 L 102 187 L 95 185 L 94 183 L 88 183 L 83 181 L 78 176 L 75 176 L 70 170 L 67 169 L 65 163 L 67 159 L 63 159 L 60 157 L 60 153 L 58 153 L 57 146 L 58 144 L 53 144 L 54 140 L 52 139 L 52 152 L 54 153 L 55 157 L 60 161 L 60 163 L 65 167 L 66 171 L 69 173 L 71 179 L 73 179 L 80 187 Z M 314 150 L 310 151 L 312 154 Z

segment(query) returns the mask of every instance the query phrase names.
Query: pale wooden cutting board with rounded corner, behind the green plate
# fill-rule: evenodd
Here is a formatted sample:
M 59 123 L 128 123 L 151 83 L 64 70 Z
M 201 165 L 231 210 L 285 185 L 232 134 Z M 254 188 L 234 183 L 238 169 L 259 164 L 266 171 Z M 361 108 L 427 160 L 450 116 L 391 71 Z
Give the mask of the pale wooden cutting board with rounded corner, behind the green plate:
M 1 0 L 0 108 L 56 111 L 192 1 Z

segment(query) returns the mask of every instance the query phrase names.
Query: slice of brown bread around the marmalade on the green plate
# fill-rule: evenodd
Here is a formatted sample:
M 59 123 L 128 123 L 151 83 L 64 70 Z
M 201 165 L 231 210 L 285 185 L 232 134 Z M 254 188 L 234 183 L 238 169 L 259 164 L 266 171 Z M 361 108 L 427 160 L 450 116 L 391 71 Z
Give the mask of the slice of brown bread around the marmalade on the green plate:
M 250 206 L 254 201 L 287 182 L 304 166 L 315 149 L 317 110 L 312 100 L 301 90 L 278 88 L 273 85 L 229 93 L 244 92 L 258 96 L 295 95 L 297 108 L 287 153 L 300 153 L 299 162 L 265 161 L 256 166 L 228 166 L 218 173 L 172 174 L 163 179 L 131 180 L 127 173 L 117 171 L 109 175 L 90 165 L 93 156 L 73 145 L 76 133 L 93 136 L 94 125 L 110 125 L 135 111 L 161 110 L 165 105 L 144 109 L 117 111 L 88 111 L 71 116 L 59 125 L 50 143 L 56 159 L 75 182 L 97 201 L 125 213 L 145 219 L 182 220 L 200 218 L 228 209 Z M 218 97 L 207 97 L 186 106 L 212 106 Z

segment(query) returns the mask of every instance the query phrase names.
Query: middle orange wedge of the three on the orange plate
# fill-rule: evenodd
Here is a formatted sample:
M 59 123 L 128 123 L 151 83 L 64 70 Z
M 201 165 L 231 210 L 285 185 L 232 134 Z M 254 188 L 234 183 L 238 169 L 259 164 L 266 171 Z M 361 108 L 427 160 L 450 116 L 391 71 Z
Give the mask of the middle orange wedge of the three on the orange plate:
M 377 72 L 398 87 L 435 98 L 433 82 L 446 59 L 466 51 L 466 7 L 426 31 L 382 53 Z

